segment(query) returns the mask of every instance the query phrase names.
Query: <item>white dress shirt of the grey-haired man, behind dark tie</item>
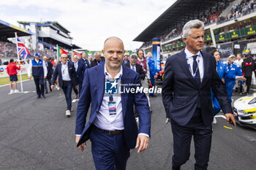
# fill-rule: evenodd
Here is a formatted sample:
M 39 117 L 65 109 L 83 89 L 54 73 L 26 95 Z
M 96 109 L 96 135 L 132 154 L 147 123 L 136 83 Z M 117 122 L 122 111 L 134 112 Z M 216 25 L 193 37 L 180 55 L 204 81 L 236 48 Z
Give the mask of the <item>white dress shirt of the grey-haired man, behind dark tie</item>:
M 191 66 L 191 71 L 193 72 L 193 62 L 194 62 L 194 58 L 193 58 L 193 55 L 197 55 L 197 66 L 198 66 L 198 69 L 199 69 L 199 73 L 200 73 L 200 80 L 202 82 L 203 80 L 203 70 L 204 70 L 204 66 L 203 66 L 203 56 L 202 54 L 200 53 L 200 51 L 198 51 L 197 54 L 193 54 L 193 53 L 190 53 L 189 50 L 187 50 L 187 47 L 185 48 L 185 54 L 187 55 L 187 58 L 189 58 L 189 61 L 188 63 L 190 64 Z M 189 66 L 189 65 L 188 65 Z M 191 73 L 193 75 L 193 73 Z

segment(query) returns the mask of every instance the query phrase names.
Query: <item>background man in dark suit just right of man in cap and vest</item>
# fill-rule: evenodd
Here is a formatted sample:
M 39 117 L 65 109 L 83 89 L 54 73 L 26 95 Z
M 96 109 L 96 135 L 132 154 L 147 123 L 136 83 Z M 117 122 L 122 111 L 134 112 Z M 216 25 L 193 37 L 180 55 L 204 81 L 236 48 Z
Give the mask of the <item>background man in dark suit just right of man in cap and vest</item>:
M 45 93 L 48 93 L 47 82 L 49 83 L 49 88 L 50 88 L 51 78 L 53 75 L 53 64 L 50 61 L 48 61 L 47 56 L 43 56 L 42 63 L 43 65 L 45 65 L 45 68 L 47 68 L 47 76 L 44 79 L 44 86 L 45 86 Z M 50 91 L 52 91 L 51 88 L 50 88 Z

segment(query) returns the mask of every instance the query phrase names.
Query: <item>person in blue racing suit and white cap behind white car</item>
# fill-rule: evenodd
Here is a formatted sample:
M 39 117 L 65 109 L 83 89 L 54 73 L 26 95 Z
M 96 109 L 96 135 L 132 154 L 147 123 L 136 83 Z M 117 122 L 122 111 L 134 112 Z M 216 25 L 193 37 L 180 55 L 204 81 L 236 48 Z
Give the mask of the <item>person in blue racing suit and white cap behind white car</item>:
M 228 57 L 228 63 L 225 64 L 225 73 L 224 73 L 224 79 L 225 79 L 225 86 L 227 90 L 227 96 L 230 99 L 230 102 L 232 102 L 232 94 L 233 94 L 233 88 L 236 84 L 236 80 L 241 80 L 242 84 L 244 84 L 244 81 L 246 80 L 245 77 L 243 77 L 243 72 L 241 71 L 241 66 L 238 66 L 235 61 L 235 55 L 230 55 Z

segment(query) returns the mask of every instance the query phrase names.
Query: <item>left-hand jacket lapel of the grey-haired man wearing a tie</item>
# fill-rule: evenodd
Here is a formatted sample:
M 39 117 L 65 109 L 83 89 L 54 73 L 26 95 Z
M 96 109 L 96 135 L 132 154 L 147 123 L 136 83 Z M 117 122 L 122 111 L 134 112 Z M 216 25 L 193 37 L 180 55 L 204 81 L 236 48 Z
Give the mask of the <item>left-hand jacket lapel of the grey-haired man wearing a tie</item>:
M 185 56 L 185 50 L 181 51 L 180 56 L 178 57 L 178 63 L 180 64 L 180 66 L 184 70 L 184 72 L 187 74 L 189 81 L 192 82 L 192 84 L 195 85 L 195 87 L 197 87 L 195 79 L 192 77 L 192 74 L 189 71 L 189 66 L 187 64 L 187 58 Z

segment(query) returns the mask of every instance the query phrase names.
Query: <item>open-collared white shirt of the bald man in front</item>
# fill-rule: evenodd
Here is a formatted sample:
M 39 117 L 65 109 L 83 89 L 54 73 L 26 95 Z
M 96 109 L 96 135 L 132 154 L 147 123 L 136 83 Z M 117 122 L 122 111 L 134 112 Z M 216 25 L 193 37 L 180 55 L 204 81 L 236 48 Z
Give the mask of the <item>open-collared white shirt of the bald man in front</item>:
M 106 66 L 104 68 L 105 78 L 108 80 L 113 80 L 111 75 L 108 73 Z M 123 67 L 121 66 L 120 71 L 116 75 L 115 79 L 118 79 L 123 74 Z M 120 85 L 121 80 L 118 80 L 118 85 Z M 99 108 L 99 113 L 97 114 L 94 125 L 98 128 L 115 131 L 124 129 L 124 119 L 121 106 L 121 94 L 113 95 L 113 101 L 116 101 L 116 115 L 110 115 L 108 109 L 109 94 L 104 94 L 102 99 L 102 105 Z

